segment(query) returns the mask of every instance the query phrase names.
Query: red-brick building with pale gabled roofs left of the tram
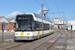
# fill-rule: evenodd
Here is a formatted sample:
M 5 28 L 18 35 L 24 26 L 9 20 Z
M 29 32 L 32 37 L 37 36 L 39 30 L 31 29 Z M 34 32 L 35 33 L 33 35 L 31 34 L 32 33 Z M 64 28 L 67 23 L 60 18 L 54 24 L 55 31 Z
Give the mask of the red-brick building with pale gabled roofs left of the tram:
M 11 31 L 13 32 L 15 30 L 15 20 L 13 18 L 5 18 L 4 16 L 0 16 L 0 32 L 2 32 L 2 23 L 5 24 L 5 30 L 4 32 Z

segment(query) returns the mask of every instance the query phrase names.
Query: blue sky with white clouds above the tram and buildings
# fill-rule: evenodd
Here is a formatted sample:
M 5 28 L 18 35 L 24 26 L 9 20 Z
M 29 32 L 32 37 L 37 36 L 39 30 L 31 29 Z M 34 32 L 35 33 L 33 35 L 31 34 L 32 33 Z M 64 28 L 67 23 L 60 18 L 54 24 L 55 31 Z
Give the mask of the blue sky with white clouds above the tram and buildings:
M 44 3 L 44 1 L 49 6 Z M 49 10 L 49 18 L 63 18 L 63 13 L 50 14 L 52 12 L 65 12 L 66 20 L 75 20 L 75 0 L 0 0 L 0 16 L 6 18 L 15 18 L 20 13 L 38 13 L 40 14 L 41 3 L 44 4 L 44 9 Z M 56 1 L 56 2 L 55 2 Z M 58 7 L 58 8 L 57 8 Z M 58 11 L 59 10 L 59 11 Z

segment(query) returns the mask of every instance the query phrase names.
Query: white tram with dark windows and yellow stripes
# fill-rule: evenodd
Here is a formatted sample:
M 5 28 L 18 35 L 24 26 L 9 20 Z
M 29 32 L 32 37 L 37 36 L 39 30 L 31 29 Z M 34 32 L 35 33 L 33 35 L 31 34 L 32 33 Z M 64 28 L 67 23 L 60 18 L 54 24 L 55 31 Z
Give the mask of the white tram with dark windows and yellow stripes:
M 43 18 L 43 33 L 41 16 L 35 13 L 16 16 L 14 40 L 34 40 L 54 32 L 51 21 Z

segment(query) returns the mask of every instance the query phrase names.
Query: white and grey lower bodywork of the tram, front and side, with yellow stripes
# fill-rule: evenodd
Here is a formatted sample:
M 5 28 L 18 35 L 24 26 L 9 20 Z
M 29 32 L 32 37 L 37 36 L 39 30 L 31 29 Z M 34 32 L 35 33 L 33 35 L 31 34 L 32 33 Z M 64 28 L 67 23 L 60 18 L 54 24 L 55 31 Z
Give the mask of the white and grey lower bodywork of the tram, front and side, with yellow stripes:
M 42 34 L 42 31 L 15 32 L 14 40 L 34 40 L 34 39 L 38 39 L 42 36 L 46 36 L 48 34 L 50 34 L 49 30 L 44 30 L 43 34 Z

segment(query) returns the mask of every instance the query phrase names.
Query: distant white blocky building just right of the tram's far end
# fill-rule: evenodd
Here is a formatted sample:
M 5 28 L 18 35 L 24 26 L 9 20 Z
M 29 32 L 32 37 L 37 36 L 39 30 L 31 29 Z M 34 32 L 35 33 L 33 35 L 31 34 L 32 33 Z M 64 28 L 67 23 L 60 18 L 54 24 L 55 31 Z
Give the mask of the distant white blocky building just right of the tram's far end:
M 66 25 L 66 20 L 59 20 L 59 18 L 54 18 L 53 20 L 54 28 L 65 28 L 64 25 Z

